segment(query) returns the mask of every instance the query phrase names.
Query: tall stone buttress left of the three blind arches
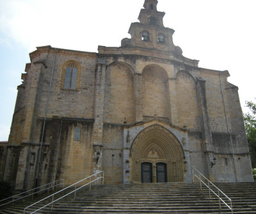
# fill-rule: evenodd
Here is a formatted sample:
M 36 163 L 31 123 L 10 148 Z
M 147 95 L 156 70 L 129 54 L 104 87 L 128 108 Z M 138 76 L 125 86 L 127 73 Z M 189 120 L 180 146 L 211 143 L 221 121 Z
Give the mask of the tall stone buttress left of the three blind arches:
M 106 62 L 98 59 L 95 80 L 95 103 L 93 125 L 93 173 L 102 169 L 102 137 L 104 119 L 104 90 L 106 77 Z

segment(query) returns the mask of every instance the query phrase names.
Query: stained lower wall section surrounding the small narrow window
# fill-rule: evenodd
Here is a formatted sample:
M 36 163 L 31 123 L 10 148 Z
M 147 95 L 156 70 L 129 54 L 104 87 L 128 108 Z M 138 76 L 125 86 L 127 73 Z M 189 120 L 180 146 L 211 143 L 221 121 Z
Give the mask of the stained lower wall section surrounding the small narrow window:
M 76 126 L 81 128 L 79 141 L 74 140 Z M 92 129 L 92 122 L 76 120 L 63 120 L 62 122 L 56 179 L 64 179 L 65 185 L 71 185 L 91 175 Z

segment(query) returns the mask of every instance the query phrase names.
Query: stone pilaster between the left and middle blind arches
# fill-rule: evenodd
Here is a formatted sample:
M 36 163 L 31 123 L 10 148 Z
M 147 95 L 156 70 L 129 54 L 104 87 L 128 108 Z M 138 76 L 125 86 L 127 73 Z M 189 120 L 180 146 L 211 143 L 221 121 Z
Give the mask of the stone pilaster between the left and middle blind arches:
M 135 122 L 143 121 L 142 74 L 134 74 Z

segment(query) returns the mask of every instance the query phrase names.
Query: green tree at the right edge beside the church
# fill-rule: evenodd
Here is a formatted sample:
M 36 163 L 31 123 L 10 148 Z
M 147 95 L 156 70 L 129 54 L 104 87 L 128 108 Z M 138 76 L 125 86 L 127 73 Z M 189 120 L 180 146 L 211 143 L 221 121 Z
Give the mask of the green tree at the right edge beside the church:
M 252 168 L 256 168 L 256 104 L 246 101 L 246 107 L 249 108 L 250 112 L 244 114 L 244 124 L 250 149 Z

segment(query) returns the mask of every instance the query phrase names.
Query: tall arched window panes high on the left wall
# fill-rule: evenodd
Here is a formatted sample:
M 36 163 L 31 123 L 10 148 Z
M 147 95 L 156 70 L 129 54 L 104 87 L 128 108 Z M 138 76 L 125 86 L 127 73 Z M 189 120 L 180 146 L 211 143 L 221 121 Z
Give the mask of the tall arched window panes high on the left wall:
M 65 72 L 65 89 L 76 89 L 77 82 L 77 68 L 76 65 L 71 64 L 67 67 Z

